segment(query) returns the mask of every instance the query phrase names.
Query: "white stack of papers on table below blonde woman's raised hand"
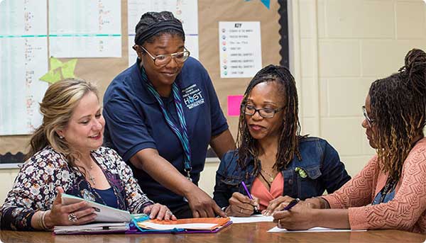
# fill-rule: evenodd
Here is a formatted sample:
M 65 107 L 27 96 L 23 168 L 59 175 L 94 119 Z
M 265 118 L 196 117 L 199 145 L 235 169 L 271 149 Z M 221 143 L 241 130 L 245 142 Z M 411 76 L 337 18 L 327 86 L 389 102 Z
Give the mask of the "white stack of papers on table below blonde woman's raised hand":
M 126 222 L 101 222 L 89 225 L 55 226 L 54 234 L 105 234 L 122 233 L 129 230 Z

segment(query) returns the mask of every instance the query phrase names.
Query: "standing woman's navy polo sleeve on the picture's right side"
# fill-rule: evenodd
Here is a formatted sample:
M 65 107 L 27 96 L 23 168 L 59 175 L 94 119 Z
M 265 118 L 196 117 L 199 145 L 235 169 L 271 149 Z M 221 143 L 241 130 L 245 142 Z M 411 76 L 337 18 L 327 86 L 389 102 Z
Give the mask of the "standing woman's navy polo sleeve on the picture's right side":
M 210 79 L 209 74 L 205 69 L 204 72 L 207 94 L 209 95 L 210 115 L 212 118 L 212 136 L 216 136 L 228 129 L 228 123 L 226 123 L 225 115 L 220 107 L 216 91 L 214 91 L 212 79 Z

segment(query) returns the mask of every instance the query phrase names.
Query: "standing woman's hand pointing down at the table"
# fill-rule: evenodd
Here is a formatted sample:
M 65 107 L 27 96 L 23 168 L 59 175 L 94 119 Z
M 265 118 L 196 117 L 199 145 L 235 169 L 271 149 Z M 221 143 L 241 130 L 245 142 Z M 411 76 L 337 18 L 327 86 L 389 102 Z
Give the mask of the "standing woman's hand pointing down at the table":
M 185 197 L 190 204 L 192 217 L 215 217 L 215 213 L 220 217 L 226 217 L 214 200 L 198 187 Z

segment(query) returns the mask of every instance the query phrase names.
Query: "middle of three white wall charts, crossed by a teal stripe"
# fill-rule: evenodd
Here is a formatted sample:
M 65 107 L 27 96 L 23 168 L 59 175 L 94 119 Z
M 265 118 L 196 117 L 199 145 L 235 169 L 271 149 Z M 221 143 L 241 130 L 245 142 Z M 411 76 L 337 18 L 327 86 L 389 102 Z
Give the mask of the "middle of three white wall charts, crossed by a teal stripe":
M 120 0 L 49 0 L 53 57 L 121 57 Z

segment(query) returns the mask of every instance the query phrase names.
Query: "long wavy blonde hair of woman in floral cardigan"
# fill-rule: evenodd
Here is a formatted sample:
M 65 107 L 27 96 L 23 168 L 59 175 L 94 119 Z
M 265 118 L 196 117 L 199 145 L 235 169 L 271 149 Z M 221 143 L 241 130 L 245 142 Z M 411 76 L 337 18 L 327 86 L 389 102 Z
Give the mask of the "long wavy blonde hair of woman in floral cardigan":
M 78 154 L 70 150 L 67 141 L 60 138 L 56 131 L 67 127 L 75 107 L 89 92 L 99 98 L 96 86 L 81 79 L 65 79 L 49 86 L 40 103 L 43 123 L 31 137 L 27 159 L 50 145 L 64 154 L 70 164 L 74 164 Z

